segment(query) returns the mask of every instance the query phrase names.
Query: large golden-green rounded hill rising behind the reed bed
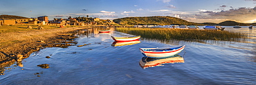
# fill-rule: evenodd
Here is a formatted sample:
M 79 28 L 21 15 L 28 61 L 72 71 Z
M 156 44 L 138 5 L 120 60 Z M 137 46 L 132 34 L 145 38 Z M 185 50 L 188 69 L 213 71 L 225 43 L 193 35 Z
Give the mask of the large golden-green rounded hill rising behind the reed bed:
M 113 22 L 120 25 L 203 25 L 192 23 L 172 16 L 144 16 L 144 17 L 126 17 L 114 19 Z

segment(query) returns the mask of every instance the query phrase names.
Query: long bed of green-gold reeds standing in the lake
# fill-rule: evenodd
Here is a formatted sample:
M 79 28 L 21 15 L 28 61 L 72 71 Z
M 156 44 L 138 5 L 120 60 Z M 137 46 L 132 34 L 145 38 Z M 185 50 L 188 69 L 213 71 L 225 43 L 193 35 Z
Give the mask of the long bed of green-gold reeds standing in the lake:
M 160 40 L 237 40 L 244 38 L 238 32 L 203 30 L 203 29 L 170 29 L 170 28 L 127 28 L 118 27 L 118 32 L 139 35 L 143 38 L 156 38 Z

